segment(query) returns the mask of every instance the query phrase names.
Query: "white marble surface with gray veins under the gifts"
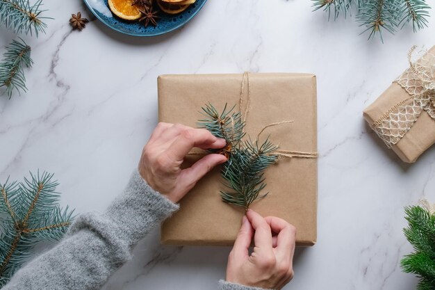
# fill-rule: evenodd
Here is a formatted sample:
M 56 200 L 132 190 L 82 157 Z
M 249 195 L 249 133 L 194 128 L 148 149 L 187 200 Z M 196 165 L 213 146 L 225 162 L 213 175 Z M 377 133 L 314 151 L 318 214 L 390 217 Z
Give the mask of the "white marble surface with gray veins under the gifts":
M 429 3 L 435 8 L 435 1 Z M 79 0 L 44 0 L 47 35 L 25 38 L 29 92 L 0 97 L 0 180 L 55 172 L 63 204 L 102 211 L 122 191 L 157 122 L 156 77 L 169 73 L 311 72 L 318 76 L 318 244 L 298 249 L 285 289 L 414 289 L 403 207 L 435 202 L 435 149 L 407 166 L 363 122 L 362 110 L 407 66 L 411 45 L 435 45 L 435 19 L 368 42 L 353 19 L 327 22 L 309 1 L 210 0 L 183 29 L 133 38 L 97 20 L 68 19 Z M 433 13 L 432 13 L 433 15 Z M 13 34 L 1 29 L 0 45 Z M 142 241 L 104 287 L 216 289 L 229 248 Z

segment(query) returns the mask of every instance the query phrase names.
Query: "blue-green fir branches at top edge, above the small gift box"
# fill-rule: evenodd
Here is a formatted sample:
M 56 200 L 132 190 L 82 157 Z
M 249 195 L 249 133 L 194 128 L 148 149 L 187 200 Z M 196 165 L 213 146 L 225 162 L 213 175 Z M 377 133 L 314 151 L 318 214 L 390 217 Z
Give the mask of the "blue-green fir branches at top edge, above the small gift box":
M 369 33 L 368 39 L 379 34 L 384 42 L 382 31 L 394 34 L 406 24 L 412 22 L 413 31 L 427 27 L 430 6 L 426 0 L 312 0 L 313 10 L 323 9 L 328 13 L 328 19 L 334 14 L 352 13 L 356 10 L 356 21 L 364 27 L 362 33 Z M 361 34 L 362 34 L 361 33 Z

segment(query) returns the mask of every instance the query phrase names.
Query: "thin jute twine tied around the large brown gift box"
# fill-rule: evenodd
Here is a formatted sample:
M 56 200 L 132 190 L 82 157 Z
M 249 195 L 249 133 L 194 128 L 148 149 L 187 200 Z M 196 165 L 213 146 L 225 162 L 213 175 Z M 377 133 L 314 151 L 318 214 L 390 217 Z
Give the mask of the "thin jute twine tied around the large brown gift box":
M 247 86 L 247 93 L 245 94 L 245 87 Z M 245 95 L 246 95 L 246 99 L 245 99 Z M 247 115 L 249 113 L 249 106 L 251 104 L 251 79 L 249 78 L 249 72 L 245 72 L 243 74 L 243 79 L 242 79 L 242 83 L 240 86 L 240 97 L 239 97 L 239 109 L 240 112 L 243 111 L 242 114 L 242 120 L 243 122 L 246 122 L 247 119 Z M 281 122 L 274 122 L 271 124 L 266 125 L 265 127 L 263 127 L 263 129 L 260 130 L 260 132 L 257 135 L 256 140 L 258 140 L 258 138 L 260 138 L 261 134 L 263 134 L 263 132 L 265 130 L 267 130 L 270 127 L 274 127 L 274 126 L 278 126 L 281 124 L 287 124 L 287 123 L 292 123 L 293 121 L 290 120 L 284 120 Z M 204 152 L 199 152 L 196 150 L 192 150 L 191 152 L 189 152 L 190 155 L 204 155 Z M 279 157 L 285 157 L 285 158 L 310 158 L 310 159 L 315 159 L 318 157 L 318 153 L 317 152 L 300 152 L 300 151 L 290 151 L 290 150 L 275 150 L 272 154 L 277 155 Z

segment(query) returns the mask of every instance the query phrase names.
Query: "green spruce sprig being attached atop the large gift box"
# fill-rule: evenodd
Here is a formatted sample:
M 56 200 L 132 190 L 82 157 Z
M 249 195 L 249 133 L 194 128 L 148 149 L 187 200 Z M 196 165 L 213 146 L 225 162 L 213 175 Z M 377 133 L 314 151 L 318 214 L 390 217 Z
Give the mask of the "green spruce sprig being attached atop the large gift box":
M 258 140 L 242 141 L 245 123 L 234 107 L 228 109 L 225 104 L 222 113 L 219 113 L 213 105 L 207 104 L 202 108 L 206 118 L 199 120 L 198 125 L 208 129 L 214 136 L 227 140 L 227 145 L 221 150 L 210 150 L 224 154 L 228 159 L 221 174 L 224 184 L 231 190 L 221 191 L 220 195 L 224 202 L 247 210 L 252 202 L 268 194 L 260 195 L 266 186 L 263 175 L 265 169 L 277 161 L 278 156 L 274 154 L 277 146 L 268 139 L 263 143 L 258 143 Z

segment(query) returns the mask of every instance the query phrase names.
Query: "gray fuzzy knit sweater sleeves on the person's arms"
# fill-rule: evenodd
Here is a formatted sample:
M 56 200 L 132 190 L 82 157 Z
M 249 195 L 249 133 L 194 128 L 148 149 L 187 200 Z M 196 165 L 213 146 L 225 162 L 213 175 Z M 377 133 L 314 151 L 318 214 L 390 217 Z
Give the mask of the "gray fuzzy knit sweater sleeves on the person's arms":
M 2 290 L 100 289 L 131 258 L 131 250 L 179 209 L 133 173 L 104 214 L 83 214 L 65 239 L 21 268 Z M 220 280 L 222 290 L 259 290 Z

